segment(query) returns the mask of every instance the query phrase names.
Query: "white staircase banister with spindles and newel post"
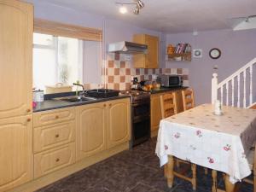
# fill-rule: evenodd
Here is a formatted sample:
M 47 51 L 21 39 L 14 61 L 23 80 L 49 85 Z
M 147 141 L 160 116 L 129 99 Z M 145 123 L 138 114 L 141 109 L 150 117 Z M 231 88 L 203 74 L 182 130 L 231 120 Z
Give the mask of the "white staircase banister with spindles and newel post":
M 222 82 L 218 74 L 212 74 L 212 103 L 220 100 L 223 105 L 237 108 L 256 108 L 256 58 L 249 61 Z

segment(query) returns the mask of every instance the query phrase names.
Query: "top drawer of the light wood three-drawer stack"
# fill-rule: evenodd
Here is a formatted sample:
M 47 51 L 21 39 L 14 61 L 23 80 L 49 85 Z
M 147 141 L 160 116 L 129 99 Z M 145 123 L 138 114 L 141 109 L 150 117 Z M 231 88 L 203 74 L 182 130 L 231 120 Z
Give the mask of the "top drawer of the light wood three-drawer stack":
M 75 118 L 75 108 L 61 108 L 33 113 L 33 126 L 50 125 Z

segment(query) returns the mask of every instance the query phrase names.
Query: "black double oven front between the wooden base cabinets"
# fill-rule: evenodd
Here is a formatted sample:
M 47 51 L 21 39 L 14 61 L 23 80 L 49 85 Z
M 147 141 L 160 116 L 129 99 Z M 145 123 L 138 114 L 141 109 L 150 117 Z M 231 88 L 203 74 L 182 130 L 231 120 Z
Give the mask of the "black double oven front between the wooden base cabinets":
M 150 138 L 150 100 L 131 104 L 132 146 Z

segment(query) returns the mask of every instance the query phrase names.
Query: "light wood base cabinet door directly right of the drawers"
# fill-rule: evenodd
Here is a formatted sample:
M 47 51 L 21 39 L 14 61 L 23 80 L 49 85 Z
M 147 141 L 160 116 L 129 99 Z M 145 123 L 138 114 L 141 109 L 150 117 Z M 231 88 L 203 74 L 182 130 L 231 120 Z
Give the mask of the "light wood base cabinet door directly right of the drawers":
M 77 160 L 106 149 L 106 102 L 76 108 Z

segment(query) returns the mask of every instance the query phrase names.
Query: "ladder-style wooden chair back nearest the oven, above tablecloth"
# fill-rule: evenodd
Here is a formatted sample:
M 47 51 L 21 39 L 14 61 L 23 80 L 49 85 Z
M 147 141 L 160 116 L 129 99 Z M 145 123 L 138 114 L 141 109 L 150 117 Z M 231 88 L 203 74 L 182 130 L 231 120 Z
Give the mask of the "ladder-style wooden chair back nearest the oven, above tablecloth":
M 177 113 L 177 95 L 175 92 L 166 93 L 160 96 L 162 119 Z

